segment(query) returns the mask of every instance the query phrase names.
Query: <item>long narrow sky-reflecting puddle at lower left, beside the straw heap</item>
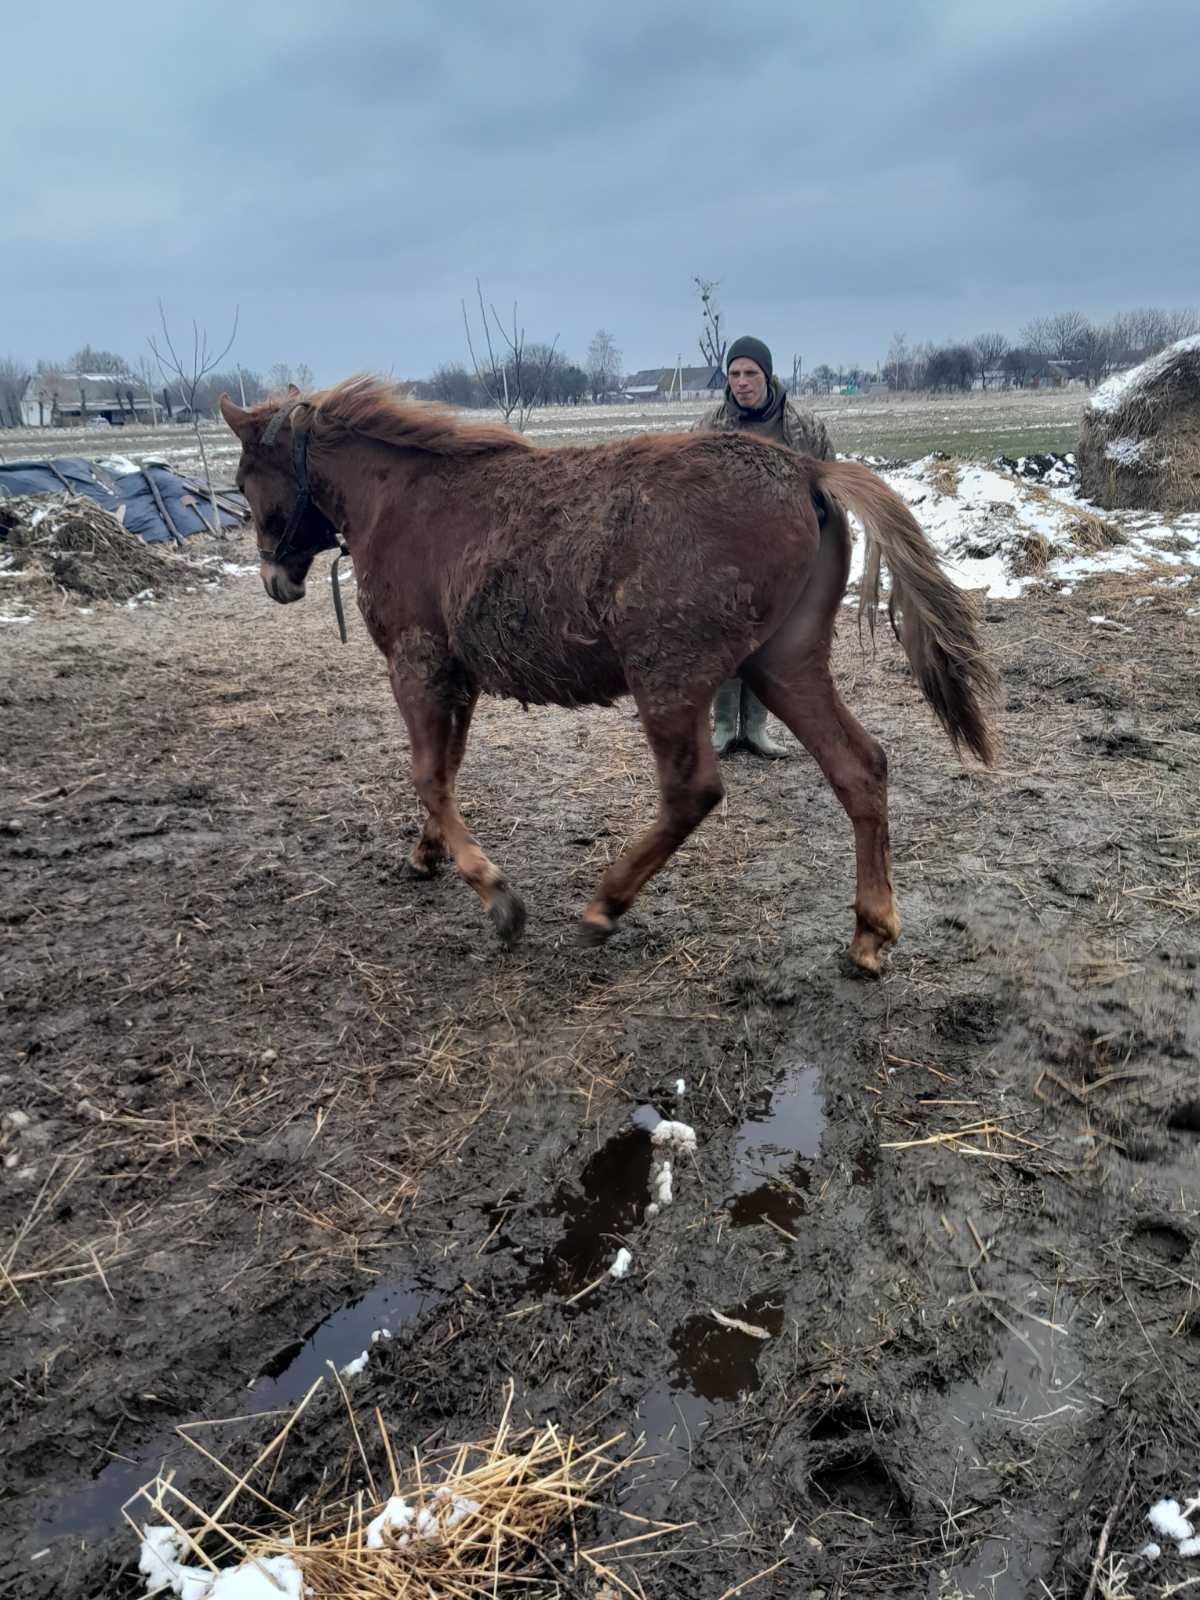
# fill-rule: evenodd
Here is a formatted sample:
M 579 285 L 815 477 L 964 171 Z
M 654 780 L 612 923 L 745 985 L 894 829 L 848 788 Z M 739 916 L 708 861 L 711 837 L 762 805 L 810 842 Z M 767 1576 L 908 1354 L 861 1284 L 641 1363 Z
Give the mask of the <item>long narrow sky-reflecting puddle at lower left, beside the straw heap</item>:
M 277 1350 L 254 1378 L 246 1403 L 246 1416 L 259 1411 L 283 1411 L 294 1406 L 317 1378 L 328 1376 L 326 1362 L 346 1366 L 371 1347 L 371 1334 L 379 1328 L 395 1333 L 406 1322 L 427 1310 L 437 1296 L 411 1283 L 379 1285 L 331 1312 L 301 1339 Z M 200 1429 L 197 1438 L 214 1448 L 214 1429 Z M 42 1525 L 42 1541 L 74 1538 L 106 1538 L 123 1526 L 122 1506 L 149 1483 L 168 1462 L 176 1469 L 174 1483 L 186 1491 L 194 1477 L 189 1472 L 192 1451 L 176 1435 L 166 1435 L 147 1446 L 139 1461 L 112 1461 L 82 1486 Z M 131 1507 L 138 1515 L 138 1507 Z

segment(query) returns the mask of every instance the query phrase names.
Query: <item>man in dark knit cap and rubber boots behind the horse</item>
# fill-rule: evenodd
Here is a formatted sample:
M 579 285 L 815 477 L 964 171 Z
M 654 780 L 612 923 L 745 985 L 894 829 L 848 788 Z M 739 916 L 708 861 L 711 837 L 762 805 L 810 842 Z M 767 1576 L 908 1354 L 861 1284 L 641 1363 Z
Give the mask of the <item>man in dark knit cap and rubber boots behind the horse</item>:
M 698 432 L 763 434 L 803 456 L 834 459 L 826 424 L 787 398 L 774 376 L 771 352 L 762 339 L 734 339 L 725 357 L 725 398 L 696 422 Z M 741 678 L 730 678 L 712 702 L 712 742 L 717 755 L 744 744 L 752 755 L 778 760 L 787 750 L 766 736 L 766 707 Z

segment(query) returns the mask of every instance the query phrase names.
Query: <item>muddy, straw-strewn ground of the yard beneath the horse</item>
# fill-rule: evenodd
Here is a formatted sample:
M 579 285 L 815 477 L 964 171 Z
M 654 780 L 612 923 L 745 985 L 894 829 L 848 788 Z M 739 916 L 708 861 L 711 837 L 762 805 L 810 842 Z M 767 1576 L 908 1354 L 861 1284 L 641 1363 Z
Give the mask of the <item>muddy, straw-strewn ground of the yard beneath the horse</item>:
M 328 594 L 5 629 L 0 1594 L 139 1594 L 122 1501 L 160 1464 L 221 1491 L 174 1427 L 238 1418 L 192 1437 L 240 1467 L 381 1325 L 349 1389 L 405 1450 L 483 1435 L 509 1381 L 646 1435 L 587 1531 L 691 1523 L 621 1566 L 651 1597 L 1189 1576 L 1130 1555 L 1200 1467 L 1200 598 L 1134 590 L 987 605 L 995 774 L 843 630 L 893 774 L 875 984 L 798 750 L 731 762 L 584 950 L 653 806 L 637 723 L 485 704 L 462 792 L 530 906 L 506 955 L 451 874 L 405 875 L 403 730 Z M 699 1134 L 653 1221 L 646 1102 Z M 326 1384 L 270 1498 L 360 1478 Z

